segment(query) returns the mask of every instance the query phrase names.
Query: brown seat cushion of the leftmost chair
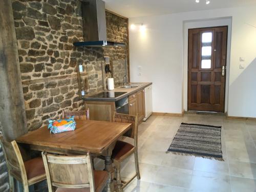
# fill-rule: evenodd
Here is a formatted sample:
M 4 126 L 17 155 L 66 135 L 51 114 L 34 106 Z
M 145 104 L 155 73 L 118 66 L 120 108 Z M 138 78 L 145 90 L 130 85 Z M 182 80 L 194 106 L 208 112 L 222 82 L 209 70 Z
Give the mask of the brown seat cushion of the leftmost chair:
M 32 179 L 34 177 L 45 175 L 46 170 L 42 157 L 37 157 L 24 162 L 27 178 Z

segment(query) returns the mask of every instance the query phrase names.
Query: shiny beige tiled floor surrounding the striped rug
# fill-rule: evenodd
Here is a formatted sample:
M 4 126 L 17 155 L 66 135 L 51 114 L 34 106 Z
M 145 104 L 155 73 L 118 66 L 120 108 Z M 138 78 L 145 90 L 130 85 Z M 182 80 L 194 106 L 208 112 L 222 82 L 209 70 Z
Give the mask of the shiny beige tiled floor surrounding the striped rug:
M 165 153 L 181 122 L 222 126 L 224 161 Z M 256 191 L 256 121 L 227 120 L 223 116 L 152 116 L 139 125 L 141 179 L 131 191 Z M 123 162 L 123 179 L 135 173 L 134 157 Z

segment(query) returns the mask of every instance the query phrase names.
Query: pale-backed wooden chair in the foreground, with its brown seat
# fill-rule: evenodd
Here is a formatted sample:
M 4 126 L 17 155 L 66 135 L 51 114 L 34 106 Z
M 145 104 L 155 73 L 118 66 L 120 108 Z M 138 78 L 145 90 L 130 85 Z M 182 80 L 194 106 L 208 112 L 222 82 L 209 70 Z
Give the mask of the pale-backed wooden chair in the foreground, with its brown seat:
M 82 156 L 57 156 L 42 152 L 49 192 L 99 192 L 105 187 L 108 172 L 93 170 L 88 153 Z

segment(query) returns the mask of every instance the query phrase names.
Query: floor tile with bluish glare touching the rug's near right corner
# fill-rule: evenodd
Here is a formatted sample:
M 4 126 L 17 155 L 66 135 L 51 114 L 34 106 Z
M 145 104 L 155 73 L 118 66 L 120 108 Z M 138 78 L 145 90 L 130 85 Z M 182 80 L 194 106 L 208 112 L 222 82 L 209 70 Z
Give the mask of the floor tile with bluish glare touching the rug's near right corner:
M 228 163 L 214 159 L 196 157 L 194 170 L 229 175 Z

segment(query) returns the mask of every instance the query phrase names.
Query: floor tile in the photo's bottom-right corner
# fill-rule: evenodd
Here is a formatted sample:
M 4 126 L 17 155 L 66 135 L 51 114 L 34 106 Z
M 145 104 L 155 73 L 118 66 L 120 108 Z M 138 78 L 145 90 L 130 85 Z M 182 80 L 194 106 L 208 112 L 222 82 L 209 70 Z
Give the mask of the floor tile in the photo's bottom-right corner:
M 256 180 L 240 177 L 230 177 L 232 192 L 256 191 Z

